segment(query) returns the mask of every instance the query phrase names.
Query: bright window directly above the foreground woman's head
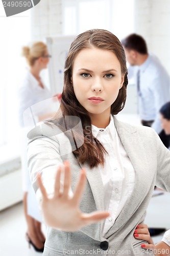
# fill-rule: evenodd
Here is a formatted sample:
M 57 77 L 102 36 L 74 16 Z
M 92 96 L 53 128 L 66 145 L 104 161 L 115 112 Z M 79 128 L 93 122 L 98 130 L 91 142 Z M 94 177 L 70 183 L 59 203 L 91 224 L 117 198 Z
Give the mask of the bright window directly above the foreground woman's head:
M 134 32 L 134 0 L 63 0 L 63 34 L 107 29 L 120 40 Z

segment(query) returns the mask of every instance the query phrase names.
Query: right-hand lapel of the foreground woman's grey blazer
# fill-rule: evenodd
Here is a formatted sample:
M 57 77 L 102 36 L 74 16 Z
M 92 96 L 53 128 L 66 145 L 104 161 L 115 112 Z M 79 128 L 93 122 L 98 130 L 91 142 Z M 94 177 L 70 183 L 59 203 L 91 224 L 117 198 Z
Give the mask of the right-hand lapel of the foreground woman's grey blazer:
M 143 195 L 147 193 L 147 186 L 145 188 L 143 187 L 143 174 L 144 172 L 148 172 L 148 161 L 145 156 L 142 138 L 138 135 L 135 126 L 129 124 L 126 126 L 126 123 L 119 122 L 115 117 L 114 123 L 120 140 L 135 169 L 135 185 L 130 198 L 117 217 L 114 225 L 107 232 L 106 237 L 111 236 L 112 233 L 124 226 L 135 212 L 138 204 L 143 200 Z M 145 183 L 148 183 L 147 180 L 145 180 Z

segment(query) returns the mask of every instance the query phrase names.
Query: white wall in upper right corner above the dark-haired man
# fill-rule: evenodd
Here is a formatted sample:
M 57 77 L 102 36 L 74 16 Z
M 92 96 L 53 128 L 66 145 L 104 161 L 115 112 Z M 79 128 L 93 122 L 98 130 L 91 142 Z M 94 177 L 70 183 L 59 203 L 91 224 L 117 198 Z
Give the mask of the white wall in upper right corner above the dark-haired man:
M 149 51 L 158 56 L 170 74 L 169 27 L 169 0 L 135 0 L 135 32 L 147 40 Z

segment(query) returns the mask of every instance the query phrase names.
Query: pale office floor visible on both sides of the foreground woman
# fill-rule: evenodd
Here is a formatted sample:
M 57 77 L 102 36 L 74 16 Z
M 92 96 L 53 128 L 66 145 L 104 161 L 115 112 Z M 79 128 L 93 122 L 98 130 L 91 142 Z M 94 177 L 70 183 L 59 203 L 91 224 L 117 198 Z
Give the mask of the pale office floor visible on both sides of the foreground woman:
M 163 226 L 167 229 L 169 226 L 169 200 L 170 194 L 165 196 L 153 197 L 147 213 L 147 224 L 152 224 L 153 227 Z M 164 203 L 161 205 L 163 218 L 159 215 L 157 203 Z M 163 209 L 162 209 L 163 208 Z M 156 212 L 158 212 L 156 216 Z M 159 222 L 159 225 L 158 225 Z M 44 230 L 44 229 L 43 229 Z M 16 204 L 4 211 L 0 212 L 0 255 L 2 256 L 40 256 L 40 252 L 35 252 L 25 239 L 26 222 L 23 215 L 22 203 Z M 157 243 L 162 238 L 161 236 L 153 237 L 154 242 Z

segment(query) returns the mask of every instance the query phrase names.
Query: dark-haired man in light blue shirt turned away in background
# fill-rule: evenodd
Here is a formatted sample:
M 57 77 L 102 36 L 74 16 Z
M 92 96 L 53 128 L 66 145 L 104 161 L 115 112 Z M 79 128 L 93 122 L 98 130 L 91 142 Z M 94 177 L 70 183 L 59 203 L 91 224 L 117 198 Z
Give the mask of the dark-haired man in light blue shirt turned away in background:
M 128 78 L 136 80 L 141 123 L 152 127 L 168 147 L 169 139 L 161 129 L 159 110 L 170 99 L 169 75 L 159 59 L 148 53 L 142 36 L 130 34 L 122 40 L 122 44 L 130 64 Z

